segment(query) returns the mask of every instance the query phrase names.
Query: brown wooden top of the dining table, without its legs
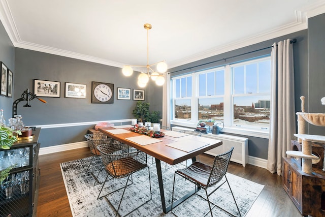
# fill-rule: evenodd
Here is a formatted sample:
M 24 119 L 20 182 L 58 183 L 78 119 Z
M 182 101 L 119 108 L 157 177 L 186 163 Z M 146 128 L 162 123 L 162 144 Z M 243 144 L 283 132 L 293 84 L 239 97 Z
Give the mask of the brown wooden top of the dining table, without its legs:
M 164 137 L 157 138 L 157 139 L 161 140 L 161 142 L 152 143 L 152 144 L 148 144 L 148 145 L 140 145 L 140 144 L 130 141 L 126 138 L 135 137 L 135 136 L 143 136 L 142 134 L 135 133 L 135 132 L 112 134 L 107 131 L 107 130 L 114 130 L 114 129 L 115 128 L 112 128 L 112 127 L 106 127 L 106 128 L 100 128 L 99 131 L 103 132 L 104 134 L 106 134 L 107 136 L 109 136 L 113 139 L 123 142 L 124 144 L 135 147 L 139 150 L 142 150 L 142 151 L 146 152 L 147 154 L 149 154 L 150 156 L 152 156 L 156 159 L 159 159 L 161 161 L 164 161 L 170 165 L 175 165 L 175 164 L 183 162 L 187 159 L 196 157 L 199 154 L 201 154 L 205 151 L 208 151 L 212 148 L 218 147 L 219 145 L 222 144 L 222 141 L 220 141 L 220 140 L 210 139 L 210 138 L 205 138 L 205 137 L 188 135 L 188 136 L 184 136 L 184 137 L 180 137 L 180 138 L 174 138 L 174 137 L 165 135 Z M 128 130 L 128 129 L 129 128 L 125 128 L 125 130 Z M 161 130 L 161 131 L 164 132 L 164 130 Z M 175 142 L 181 141 L 183 139 L 186 139 L 186 140 L 190 139 L 191 141 L 205 142 L 205 143 L 209 143 L 209 144 L 206 146 L 203 146 L 201 148 L 198 148 L 196 150 L 190 151 L 190 152 L 182 151 L 182 150 L 167 146 L 167 144 L 175 143 Z

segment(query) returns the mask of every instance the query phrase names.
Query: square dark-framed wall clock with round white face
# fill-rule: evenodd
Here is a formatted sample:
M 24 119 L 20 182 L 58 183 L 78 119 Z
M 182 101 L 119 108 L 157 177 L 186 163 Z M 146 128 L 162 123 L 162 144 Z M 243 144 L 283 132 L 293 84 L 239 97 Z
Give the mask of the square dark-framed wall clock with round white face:
M 91 82 L 91 103 L 113 103 L 114 84 Z

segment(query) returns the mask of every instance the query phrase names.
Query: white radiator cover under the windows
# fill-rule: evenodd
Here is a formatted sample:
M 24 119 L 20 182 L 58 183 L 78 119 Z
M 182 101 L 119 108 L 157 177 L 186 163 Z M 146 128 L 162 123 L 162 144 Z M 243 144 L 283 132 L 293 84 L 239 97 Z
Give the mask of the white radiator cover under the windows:
M 193 130 L 193 129 L 173 127 L 172 130 L 180 131 L 180 130 Z M 209 134 L 203 133 L 202 136 L 222 141 L 222 145 L 213 148 L 209 151 L 206 151 L 205 153 L 211 154 L 212 156 L 216 156 L 217 154 L 224 153 L 228 151 L 231 147 L 234 147 L 231 161 L 242 164 L 244 167 L 248 163 L 248 138 L 226 135 L 226 134 L 215 135 L 211 133 Z

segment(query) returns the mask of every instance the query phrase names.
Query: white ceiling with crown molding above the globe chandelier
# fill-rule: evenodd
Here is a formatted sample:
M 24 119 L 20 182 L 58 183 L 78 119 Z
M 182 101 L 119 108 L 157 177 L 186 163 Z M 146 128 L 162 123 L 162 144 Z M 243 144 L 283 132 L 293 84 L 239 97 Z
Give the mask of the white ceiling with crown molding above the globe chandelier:
M 324 0 L 0 0 L 15 47 L 105 65 L 169 68 L 307 28 Z

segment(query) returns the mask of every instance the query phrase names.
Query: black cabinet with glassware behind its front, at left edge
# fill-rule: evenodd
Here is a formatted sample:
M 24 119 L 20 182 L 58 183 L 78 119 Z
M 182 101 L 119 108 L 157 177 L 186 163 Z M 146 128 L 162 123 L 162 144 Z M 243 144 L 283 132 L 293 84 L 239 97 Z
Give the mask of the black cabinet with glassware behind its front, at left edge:
M 36 216 L 40 168 L 38 155 L 40 144 L 38 138 L 40 128 L 32 131 L 30 139 L 18 140 L 9 150 L 0 149 L 8 154 L 22 151 L 25 155 L 18 167 L 10 171 L 10 175 L 0 186 L 0 216 Z M 23 160 L 24 159 L 24 160 Z M 16 163 L 16 162 L 15 162 Z

